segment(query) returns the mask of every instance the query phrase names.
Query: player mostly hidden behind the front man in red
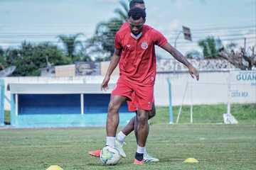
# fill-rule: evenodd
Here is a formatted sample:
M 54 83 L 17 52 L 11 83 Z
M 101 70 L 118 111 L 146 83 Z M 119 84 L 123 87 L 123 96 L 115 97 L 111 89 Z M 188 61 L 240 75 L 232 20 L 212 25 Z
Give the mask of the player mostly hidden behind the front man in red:
M 144 11 L 146 10 L 143 0 L 132 0 L 129 2 L 130 9 L 135 8 L 135 7 L 142 8 Z M 127 28 L 129 28 L 128 22 L 124 23 L 119 30 L 127 29 Z M 137 108 L 136 108 L 136 106 L 133 105 L 132 102 L 127 101 L 127 104 L 128 104 L 129 111 L 137 112 Z M 152 109 L 151 109 L 151 111 L 149 111 L 149 119 L 153 118 L 154 115 L 156 115 L 156 108 L 155 108 L 154 102 L 153 102 Z M 135 136 L 137 137 L 137 118 L 136 118 L 136 116 L 134 116 L 134 118 L 132 118 L 129 121 L 129 123 L 117 135 L 116 145 L 117 145 L 117 148 L 119 149 L 119 152 L 122 155 L 122 157 L 126 157 L 124 149 L 122 149 L 122 147 L 124 145 L 125 137 L 127 137 L 133 130 L 134 130 Z M 95 157 L 100 157 L 100 151 L 101 151 L 100 149 L 97 149 L 94 151 L 90 151 L 89 154 L 92 156 L 95 156 Z M 145 162 L 159 162 L 159 159 L 157 159 L 155 157 L 151 157 L 146 152 L 146 148 L 145 148 L 144 149 L 144 161 Z

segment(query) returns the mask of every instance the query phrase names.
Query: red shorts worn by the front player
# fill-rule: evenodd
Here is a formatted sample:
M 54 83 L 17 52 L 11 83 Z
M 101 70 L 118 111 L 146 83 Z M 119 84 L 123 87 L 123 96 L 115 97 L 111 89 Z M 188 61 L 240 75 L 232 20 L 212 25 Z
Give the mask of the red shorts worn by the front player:
M 139 86 L 120 77 L 117 86 L 112 91 L 112 96 L 127 97 L 129 111 L 137 111 L 138 109 L 151 111 L 154 103 L 154 86 Z

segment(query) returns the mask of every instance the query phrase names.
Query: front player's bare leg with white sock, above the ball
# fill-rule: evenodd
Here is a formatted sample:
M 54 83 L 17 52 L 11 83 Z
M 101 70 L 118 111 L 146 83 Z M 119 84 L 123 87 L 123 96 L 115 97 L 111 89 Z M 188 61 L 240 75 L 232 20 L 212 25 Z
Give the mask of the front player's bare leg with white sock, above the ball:
M 115 136 L 117 133 L 117 127 L 119 124 L 119 114 L 118 110 L 122 103 L 126 101 L 127 98 L 124 96 L 111 96 L 110 104 L 107 113 L 107 142 L 106 145 L 110 147 L 115 147 Z

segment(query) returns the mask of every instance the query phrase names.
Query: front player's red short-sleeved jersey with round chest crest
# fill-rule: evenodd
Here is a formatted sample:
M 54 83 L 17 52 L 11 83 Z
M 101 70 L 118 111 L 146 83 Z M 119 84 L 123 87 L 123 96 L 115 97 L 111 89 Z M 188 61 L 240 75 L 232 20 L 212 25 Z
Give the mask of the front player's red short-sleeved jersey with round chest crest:
M 129 23 L 124 23 L 115 36 L 115 48 L 122 50 L 119 60 L 120 77 L 134 84 L 153 86 L 156 77 L 154 45 L 164 46 L 167 40 L 159 31 L 144 25 L 142 36 L 131 35 Z

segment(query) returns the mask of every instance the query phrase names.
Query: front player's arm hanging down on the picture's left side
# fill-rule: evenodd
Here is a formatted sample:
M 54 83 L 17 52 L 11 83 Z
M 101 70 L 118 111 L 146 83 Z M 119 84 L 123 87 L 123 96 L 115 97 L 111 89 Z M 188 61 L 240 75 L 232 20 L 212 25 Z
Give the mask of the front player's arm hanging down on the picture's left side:
M 108 87 L 108 82 L 110 81 L 111 74 L 114 72 L 114 69 L 117 67 L 117 64 L 120 60 L 121 50 L 114 50 L 114 55 L 111 59 L 110 66 L 107 69 L 107 74 L 105 75 L 105 79 L 102 82 L 101 90 L 106 90 Z

